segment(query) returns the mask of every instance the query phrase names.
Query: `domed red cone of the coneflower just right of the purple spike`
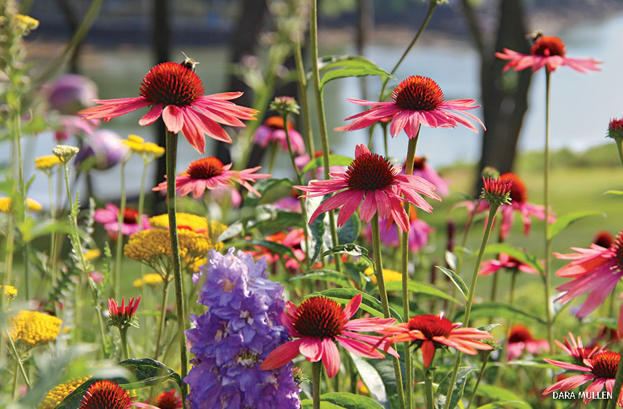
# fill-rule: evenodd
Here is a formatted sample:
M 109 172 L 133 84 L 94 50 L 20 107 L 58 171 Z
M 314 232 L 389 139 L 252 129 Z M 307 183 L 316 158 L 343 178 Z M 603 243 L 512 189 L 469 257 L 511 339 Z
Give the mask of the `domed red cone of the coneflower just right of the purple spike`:
M 341 334 L 345 322 L 342 307 L 334 300 L 319 296 L 300 303 L 292 325 L 301 335 L 333 339 Z

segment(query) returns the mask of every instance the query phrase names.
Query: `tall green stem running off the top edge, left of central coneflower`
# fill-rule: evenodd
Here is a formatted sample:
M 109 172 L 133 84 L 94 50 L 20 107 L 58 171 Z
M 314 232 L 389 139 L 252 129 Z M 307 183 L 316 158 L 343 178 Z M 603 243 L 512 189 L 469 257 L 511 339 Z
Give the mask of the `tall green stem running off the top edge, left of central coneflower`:
M 320 142 L 323 145 L 323 164 L 325 167 L 325 179 L 329 179 L 329 137 L 327 136 L 327 122 L 325 120 L 325 104 L 323 93 L 320 91 L 320 71 L 318 69 L 318 4 L 317 0 L 311 0 L 309 8 L 309 39 L 311 48 L 311 78 L 314 81 L 314 92 L 316 94 L 316 109 L 318 110 L 318 123 L 320 125 Z M 309 152 L 309 158 L 314 156 L 314 152 Z M 333 246 L 338 246 L 337 227 L 333 210 L 329 211 L 329 228 Z M 333 256 L 335 269 L 342 271 L 340 265 L 340 255 Z

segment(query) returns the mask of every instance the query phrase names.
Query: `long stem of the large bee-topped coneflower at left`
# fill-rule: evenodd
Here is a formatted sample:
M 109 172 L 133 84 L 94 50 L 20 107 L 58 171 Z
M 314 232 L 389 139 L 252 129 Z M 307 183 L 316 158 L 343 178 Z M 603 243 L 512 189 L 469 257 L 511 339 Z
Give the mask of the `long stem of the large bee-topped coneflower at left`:
M 177 238 L 177 203 L 175 201 L 175 163 L 177 161 L 177 134 L 167 131 L 167 210 L 169 215 L 169 233 L 171 236 L 171 255 L 173 262 L 173 280 L 175 282 L 175 306 L 177 310 L 177 335 L 179 337 L 179 360 L 181 363 L 181 379 L 188 375 L 188 350 L 186 349 L 186 314 L 184 313 L 184 291 L 181 280 L 179 262 L 179 241 Z M 181 397 L 183 408 L 186 408 L 188 385 L 182 383 Z

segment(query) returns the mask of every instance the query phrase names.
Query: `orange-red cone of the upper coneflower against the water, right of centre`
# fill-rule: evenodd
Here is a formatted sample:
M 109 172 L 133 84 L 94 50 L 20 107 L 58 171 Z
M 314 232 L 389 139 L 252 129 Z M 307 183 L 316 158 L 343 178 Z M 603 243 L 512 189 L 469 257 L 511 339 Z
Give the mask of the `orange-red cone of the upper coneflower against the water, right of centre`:
M 431 78 L 411 75 L 392 92 L 397 105 L 412 111 L 433 111 L 444 102 L 444 93 Z

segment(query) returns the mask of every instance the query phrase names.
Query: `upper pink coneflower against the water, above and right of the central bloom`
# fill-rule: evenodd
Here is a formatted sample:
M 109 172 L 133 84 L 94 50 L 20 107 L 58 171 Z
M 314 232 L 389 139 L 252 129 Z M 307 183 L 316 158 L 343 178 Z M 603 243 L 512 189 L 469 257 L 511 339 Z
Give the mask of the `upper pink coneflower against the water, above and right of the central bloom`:
M 390 125 L 392 138 L 403 129 L 409 138 L 415 138 L 420 125 L 430 128 L 455 128 L 460 124 L 478 132 L 478 129 L 467 118 L 485 127 L 476 116 L 464 112 L 480 107 L 480 105 L 473 106 L 476 100 L 446 101 L 443 91 L 431 78 L 411 75 L 395 87 L 392 99 L 394 102 L 372 102 L 347 98 L 354 104 L 370 105 L 374 108 L 346 118 L 345 120 L 354 119 L 346 129 L 348 131 L 362 129 L 388 117 L 393 117 Z

